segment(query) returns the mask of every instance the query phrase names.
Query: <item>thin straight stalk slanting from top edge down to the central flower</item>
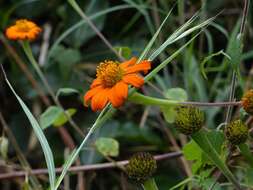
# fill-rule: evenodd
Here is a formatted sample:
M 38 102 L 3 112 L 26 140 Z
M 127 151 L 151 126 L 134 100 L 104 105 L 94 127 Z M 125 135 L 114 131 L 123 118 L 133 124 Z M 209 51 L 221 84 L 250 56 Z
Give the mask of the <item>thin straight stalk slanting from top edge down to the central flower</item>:
M 105 43 L 105 45 L 121 60 L 124 61 L 124 58 L 113 48 L 112 44 L 105 38 L 105 36 L 99 31 L 99 29 L 93 24 L 91 19 L 86 16 L 86 14 L 82 11 L 80 6 L 77 4 L 75 0 L 68 0 L 69 4 L 75 9 L 75 11 L 84 19 L 87 24 L 94 30 L 94 32 L 98 35 L 98 37 Z

